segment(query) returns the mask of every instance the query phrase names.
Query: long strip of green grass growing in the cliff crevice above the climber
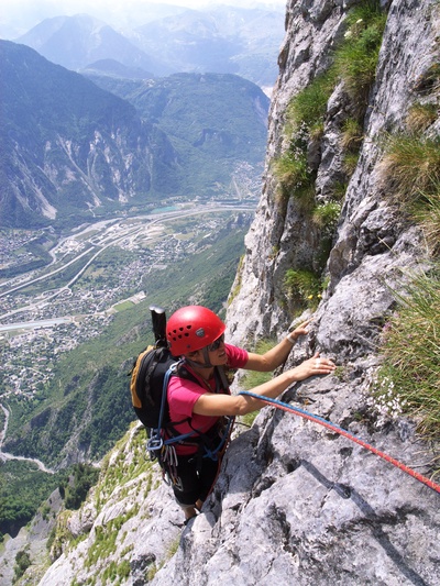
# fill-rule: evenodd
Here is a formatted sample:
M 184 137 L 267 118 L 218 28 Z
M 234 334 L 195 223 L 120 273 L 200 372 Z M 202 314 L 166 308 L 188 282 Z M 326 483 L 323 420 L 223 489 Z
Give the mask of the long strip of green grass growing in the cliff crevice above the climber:
M 277 179 L 276 203 L 286 213 L 289 201 L 310 221 L 316 246 L 300 266 L 285 273 L 282 303 L 293 313 L 316 307 L 323 288 L 322 270 L 330 254 L 342 199 L 358 163 L 363 142 L 362 128 L 369 93 L 375 80 L 386 12 L 378 0 L 367 0 L 349 10 L 345 33 L 336 47 L 332 63 L 289 101 L 284 135 L 287 147 L 272 161 Z M 348 97 L 345 119 L 341 120 L 340 147 L 343 165 L 324 198 L 316 198 L 319 167 L 317 153 L 324 130 L 327 106 L 339 81 Z

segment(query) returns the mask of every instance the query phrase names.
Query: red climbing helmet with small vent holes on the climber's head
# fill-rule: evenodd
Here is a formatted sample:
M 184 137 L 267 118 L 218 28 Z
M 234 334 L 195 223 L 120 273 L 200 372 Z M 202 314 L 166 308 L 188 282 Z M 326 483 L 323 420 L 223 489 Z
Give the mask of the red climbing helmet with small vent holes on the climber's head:
M 183 307 L 166 324 L 166 339 L 174 356 L 196 352 L 211 344 L 226 330 L 213 311 L 202 306 Z

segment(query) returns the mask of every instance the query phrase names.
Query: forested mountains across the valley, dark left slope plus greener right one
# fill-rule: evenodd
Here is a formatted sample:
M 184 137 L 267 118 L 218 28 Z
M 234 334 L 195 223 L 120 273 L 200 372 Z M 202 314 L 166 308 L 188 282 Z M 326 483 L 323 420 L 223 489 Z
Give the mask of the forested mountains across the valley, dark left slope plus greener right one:
M 237 76 L 103 76 L 110 93 L 24 45 L 1 41 L 0 63 L 0 226 L 212 197 L 264 158 L 268 100 Z

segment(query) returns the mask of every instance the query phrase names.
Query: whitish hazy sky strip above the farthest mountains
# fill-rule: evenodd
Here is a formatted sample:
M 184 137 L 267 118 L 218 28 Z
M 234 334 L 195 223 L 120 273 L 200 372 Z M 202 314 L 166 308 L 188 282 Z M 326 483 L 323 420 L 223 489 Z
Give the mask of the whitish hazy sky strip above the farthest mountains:
M 44 19 L 85 12 L 116 26 L 128 25 L 146 4 L 172 4 L 205 8 L 215 4 L 284 9 L 286 0 L 0 0 L 0 36 L 13 38 L 24 34 Z M 142 23 L 139 23 L 142 24 Z

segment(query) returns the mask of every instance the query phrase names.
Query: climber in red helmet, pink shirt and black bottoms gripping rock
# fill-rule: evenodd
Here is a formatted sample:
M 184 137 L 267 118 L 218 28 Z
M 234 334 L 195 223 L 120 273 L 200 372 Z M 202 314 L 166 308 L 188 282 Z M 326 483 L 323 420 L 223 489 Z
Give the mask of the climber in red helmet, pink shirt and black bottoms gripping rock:
M 176 467 L 173 490 L 184 510 L 185 523 L 200 510 L 217 479 L 222 451 L 216 452 L 211 447 L 216 442 L 223 443 L 226 447 L 224 418 L 243 416 L 265 405 L 253 397 L 230 395 L 223 366 L 258 372 L 274 371 L 286 361 L 297 339 L 308 333 L 309 321 L 298 325 L 270 351 L 256 354 L 227 344 L 224 323 L 205 307 L 184 307 L 169 318 L 166 327 L 169 349 L 174 356 L 183 357 L 185 367 L 198 380 L 195 383 L 194 379 L 178 376 L 170 378 L 167 390 L 170 420 L 179 422 L 174 423 L 179 433 L 197 430 L 202 438 L 201 443 L 210 443 L 210 450 L 206 450 L 205 454 L 200 452 L 200 441 L 174 444 Z M 299 366 L 252 390 L 254 394 L 275 398 L 292 384 L 312 375 L 330 374 L 334 368 L 331 360 L 321 358 L 319 353 L 316 353 Z M 208 457 L 209 455 L 211 457 Z

